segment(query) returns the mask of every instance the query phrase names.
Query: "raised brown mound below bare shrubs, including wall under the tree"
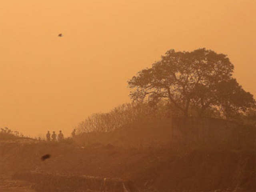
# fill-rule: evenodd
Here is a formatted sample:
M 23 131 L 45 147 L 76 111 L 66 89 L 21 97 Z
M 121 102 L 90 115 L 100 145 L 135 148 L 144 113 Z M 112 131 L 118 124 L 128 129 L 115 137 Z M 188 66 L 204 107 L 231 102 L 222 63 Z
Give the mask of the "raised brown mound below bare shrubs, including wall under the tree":
M 121 148 L 161 148 L 178 144 L 246 149 L 256 146 L 256 128 L 214 118 L 164 118 L 134 122 L 113 132 L 89 132 L 76 137 L 82 146 L 95 143 Z

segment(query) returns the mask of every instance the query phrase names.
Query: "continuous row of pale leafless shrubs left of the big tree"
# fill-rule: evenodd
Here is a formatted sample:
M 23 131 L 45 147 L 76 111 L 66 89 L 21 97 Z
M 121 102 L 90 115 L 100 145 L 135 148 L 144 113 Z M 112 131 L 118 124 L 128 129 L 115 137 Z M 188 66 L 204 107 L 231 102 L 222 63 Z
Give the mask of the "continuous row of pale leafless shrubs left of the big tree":
M 107 113 L 95 113 L 80 122 L 75 128 L 78 134 L 82 132 L 109 132 L 124 128 L 130 124 L 147 118 L 162 118 L 168 116 L 168 106 L 160 102 L 158 106 L 148 103 L 126 103 L 115 107 Z M 171 113 L 171 112 L 170 112 Z

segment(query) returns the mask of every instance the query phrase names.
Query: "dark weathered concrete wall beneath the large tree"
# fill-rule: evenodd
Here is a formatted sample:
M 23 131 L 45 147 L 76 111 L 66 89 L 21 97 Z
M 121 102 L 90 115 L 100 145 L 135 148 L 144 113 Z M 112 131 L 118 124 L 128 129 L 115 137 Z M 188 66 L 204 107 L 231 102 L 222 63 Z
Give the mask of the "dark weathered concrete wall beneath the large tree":
M 214 118 L 172 118 L 172 142 L 255 145 L 256 128 Z

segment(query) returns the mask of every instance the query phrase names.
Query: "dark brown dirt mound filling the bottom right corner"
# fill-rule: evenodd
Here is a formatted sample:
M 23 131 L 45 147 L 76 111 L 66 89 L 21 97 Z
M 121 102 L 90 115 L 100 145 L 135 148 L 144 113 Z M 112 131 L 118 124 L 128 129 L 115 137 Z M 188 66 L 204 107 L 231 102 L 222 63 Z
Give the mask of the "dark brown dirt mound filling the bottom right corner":
M 152 166 L 146 172 L 137 174 L 136 179 L 151 179 L 152 185 L 161 192 L 252 192 L 256 189 L 255 154 L 256 151 L 195 150 Z

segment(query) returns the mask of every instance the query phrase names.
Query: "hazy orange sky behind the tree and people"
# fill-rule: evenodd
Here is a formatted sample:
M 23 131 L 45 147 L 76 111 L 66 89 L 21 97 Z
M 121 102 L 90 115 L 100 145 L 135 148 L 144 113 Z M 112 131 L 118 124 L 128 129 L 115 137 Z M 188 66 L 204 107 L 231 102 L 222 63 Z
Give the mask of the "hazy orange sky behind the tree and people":
M 227 54 L 256 95 L 255 36 L 256 0 L 2 1 L 0 127 L 68 136 L 129 102 L 127 80 L 171 48 Z

